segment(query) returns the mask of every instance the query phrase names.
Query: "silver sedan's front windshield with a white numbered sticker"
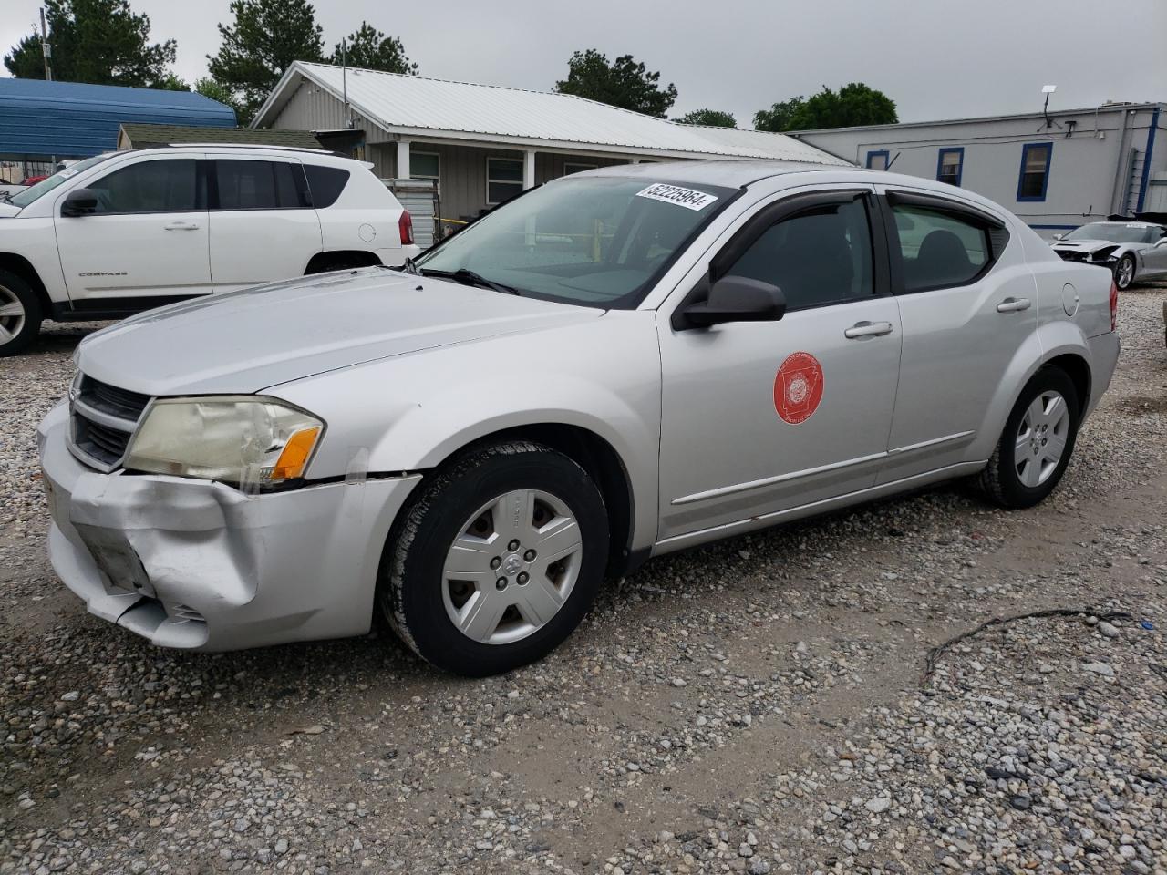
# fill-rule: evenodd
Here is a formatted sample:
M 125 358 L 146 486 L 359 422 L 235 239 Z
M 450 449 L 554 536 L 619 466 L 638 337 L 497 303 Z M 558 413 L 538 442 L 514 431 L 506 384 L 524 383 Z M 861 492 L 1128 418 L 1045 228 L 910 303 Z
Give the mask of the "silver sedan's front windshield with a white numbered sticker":
M 427 275 L 630 309 L 736 189 L 584 176 L 533 189 L 417 260 Z

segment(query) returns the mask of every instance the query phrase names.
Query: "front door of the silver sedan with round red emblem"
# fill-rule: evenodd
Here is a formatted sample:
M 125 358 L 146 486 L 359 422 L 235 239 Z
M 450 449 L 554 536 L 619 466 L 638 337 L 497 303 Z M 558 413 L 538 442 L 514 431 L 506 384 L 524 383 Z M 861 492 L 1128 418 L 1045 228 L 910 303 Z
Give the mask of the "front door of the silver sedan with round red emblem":
M 901 332 L 873 215 L 865 191 L 796 196 L 728 242 L 719 274 L 778 286 L 780 321 L 677 330 L 662 310 L 661 540 L 874 485 Z

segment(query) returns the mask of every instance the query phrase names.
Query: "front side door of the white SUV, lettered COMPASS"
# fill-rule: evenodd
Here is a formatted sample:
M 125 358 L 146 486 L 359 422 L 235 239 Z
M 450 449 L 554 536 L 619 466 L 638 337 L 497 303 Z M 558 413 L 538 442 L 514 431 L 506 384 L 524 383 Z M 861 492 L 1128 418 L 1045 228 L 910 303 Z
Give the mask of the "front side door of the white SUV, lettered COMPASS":
M 211 290 L 200 164 L 196 155 L 125 164 L 88 186 L 97 194 L 97 209 L 85 216 L 62 216 L 61 195 L 54 225 L 71 301 Z

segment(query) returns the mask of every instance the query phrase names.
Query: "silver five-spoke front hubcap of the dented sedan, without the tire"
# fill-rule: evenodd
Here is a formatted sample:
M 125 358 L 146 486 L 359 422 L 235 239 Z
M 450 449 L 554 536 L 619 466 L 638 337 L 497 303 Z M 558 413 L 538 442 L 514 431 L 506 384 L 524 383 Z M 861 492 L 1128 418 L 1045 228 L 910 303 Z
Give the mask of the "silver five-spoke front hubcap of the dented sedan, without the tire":
M 468 638 L 510 644 L 551 622 L 579 578 L 575 517 L 548 492 L 519 489 L 480 508 L 442 567 L 446 614 Z

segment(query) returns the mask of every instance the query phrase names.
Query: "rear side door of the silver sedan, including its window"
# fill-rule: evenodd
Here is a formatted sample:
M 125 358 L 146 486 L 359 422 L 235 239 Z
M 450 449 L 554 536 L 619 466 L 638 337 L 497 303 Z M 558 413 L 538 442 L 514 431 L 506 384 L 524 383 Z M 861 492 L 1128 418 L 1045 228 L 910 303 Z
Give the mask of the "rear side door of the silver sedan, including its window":
M 1037 328 L 1036 285 L 1004 220 L 942 196 L 886 194 L 903 351 L 881 483 L 979 461 L 965 452 Z

